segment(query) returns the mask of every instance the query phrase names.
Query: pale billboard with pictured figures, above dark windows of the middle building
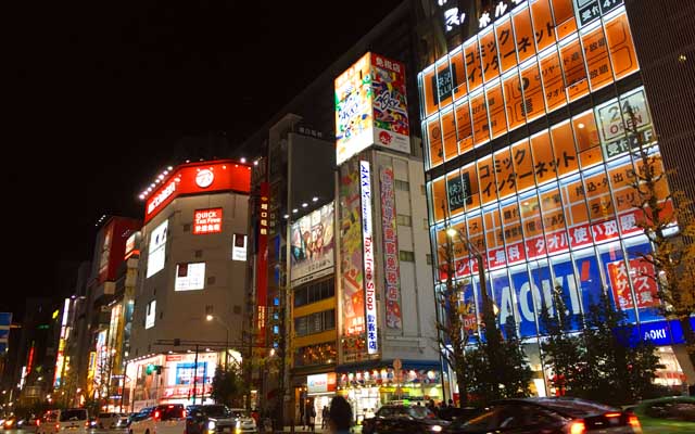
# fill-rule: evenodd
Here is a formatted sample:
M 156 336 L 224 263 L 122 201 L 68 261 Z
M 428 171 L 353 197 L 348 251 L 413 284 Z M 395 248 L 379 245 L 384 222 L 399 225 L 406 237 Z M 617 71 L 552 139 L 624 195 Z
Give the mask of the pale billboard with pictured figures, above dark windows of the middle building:
M 333 203 L 321 206 L 292 224 L 292 285 L 332 272 L 333 269 Z

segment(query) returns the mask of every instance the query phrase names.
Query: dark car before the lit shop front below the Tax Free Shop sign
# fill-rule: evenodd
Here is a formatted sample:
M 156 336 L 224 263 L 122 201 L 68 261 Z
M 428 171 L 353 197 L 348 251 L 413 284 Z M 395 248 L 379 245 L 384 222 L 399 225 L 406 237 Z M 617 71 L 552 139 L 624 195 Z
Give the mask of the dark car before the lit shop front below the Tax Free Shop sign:
M 439 419 L 427 407 L 387 404 L 374 418 L 364 420 L 362 433 L 440 433 L 446 425 L 447 421 Z

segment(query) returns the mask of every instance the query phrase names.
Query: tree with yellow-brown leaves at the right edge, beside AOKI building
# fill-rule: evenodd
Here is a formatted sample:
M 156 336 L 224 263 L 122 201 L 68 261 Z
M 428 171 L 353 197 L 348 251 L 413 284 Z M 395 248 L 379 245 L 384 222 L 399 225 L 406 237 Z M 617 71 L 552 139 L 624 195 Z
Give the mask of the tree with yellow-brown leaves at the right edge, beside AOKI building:
M 635 191 L 632 205 L 640 209 L 636 225 L 650 241 L 654 251 L 640 257 L 650 264 L 655 272 L 644 273 L 658 285 L 661 312 L 678 320 L 683 329 L 687 353 L 695 366 L 695 331 L 691 315 L 695 312 L 695 216 L 693 202 L 683 191 L 668 188 L 668 176 L 674 170 L 664 169 L 656 146 L 644 142 L 639 131 L 642 114 L 639 107 L 626 104 L 627 135 L 634 142 L 631 150 L 635 161 L 635 176 L 631 182 Z M 675 227 L 678 224 L 678 227 Z M 677 230 L 678 228 L 678 230 Z M 675 232 L 675 233 L 674 233 Z

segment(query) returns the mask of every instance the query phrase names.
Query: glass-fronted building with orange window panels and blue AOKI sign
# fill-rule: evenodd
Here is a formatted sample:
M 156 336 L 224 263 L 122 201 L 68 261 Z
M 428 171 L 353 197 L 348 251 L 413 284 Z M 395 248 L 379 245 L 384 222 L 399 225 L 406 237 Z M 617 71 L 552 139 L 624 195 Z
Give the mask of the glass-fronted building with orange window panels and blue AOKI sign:
M 657 381 L 679 387 L 692 374 L 683 333 L 659 315 L 657 288 L 644 277 L 654 269 L 640 259 L 652 246 L 633 207 L 640 168 L 628 107 L 642 142 L 660 150 L 622 0 L 501 1 L 466 20 L 478 33 L 418 76 L 438 285 L 453 227 L 484 253 L 498 320 L 515 321 L 540 396 L 555 392 L 539 317 L 543 304 L 552 311 L 556 286 L 573 318 L 607 291 L 658 346 L 666 368 Z M 660 192 L 666 199 L 666 180 Z M 454 250 L 466 327 L 477 333 L 477 264 L 463 242 Z

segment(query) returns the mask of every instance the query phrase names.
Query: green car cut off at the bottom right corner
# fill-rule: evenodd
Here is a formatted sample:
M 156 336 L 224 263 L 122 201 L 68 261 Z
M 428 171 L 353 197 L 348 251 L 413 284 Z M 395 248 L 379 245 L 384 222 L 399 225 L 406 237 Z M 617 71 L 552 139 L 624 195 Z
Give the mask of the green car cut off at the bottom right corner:
M 645 433 L 695 433 L 695 397 L 647 399 L 628 411 L 637 416 Z

